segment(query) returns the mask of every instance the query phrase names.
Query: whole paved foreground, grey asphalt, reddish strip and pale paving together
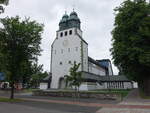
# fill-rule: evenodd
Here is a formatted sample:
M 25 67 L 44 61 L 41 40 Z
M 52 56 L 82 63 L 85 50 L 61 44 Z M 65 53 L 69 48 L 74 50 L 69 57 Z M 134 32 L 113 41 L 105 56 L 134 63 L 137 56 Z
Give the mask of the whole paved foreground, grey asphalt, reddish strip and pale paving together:
M 29 93 L 19 93 L 15 94 L 15 97 L 24 101 L 0 102 L 0 113 L 150 113 L 150 100 L 138 99 L 135 93 L 137 90 L 131 91 L 123 102 L 32 96 Z M 9 93 L 0 92 L 0 97 L 8 96 Z

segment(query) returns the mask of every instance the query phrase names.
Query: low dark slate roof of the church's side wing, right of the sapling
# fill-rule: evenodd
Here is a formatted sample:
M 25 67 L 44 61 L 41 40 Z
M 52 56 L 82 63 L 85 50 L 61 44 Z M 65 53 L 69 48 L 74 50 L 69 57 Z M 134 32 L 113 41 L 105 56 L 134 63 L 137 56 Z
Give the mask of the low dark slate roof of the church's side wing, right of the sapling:
M 102 75 L 96 75 L 96 74 L 89 73 L 89 72 L 82 72 L 82 76 L 84 79 L 95 80 L 95 81 L 100 81 L 100 82 L 112 82 L 112 81 L 130 82 L 130 80 L 127 79 L 127 77 L 123 75 L 111 75 L 111 76 L 103 75 L 102 76 Z

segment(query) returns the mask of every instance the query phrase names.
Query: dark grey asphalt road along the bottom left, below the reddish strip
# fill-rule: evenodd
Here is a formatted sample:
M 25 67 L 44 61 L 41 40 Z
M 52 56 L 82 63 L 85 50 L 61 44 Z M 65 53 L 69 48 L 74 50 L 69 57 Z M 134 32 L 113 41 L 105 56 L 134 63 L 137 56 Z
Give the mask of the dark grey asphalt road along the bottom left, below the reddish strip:
M 0 103 L 0 113 L 96 113 L 99 109 L 46 102 Z

